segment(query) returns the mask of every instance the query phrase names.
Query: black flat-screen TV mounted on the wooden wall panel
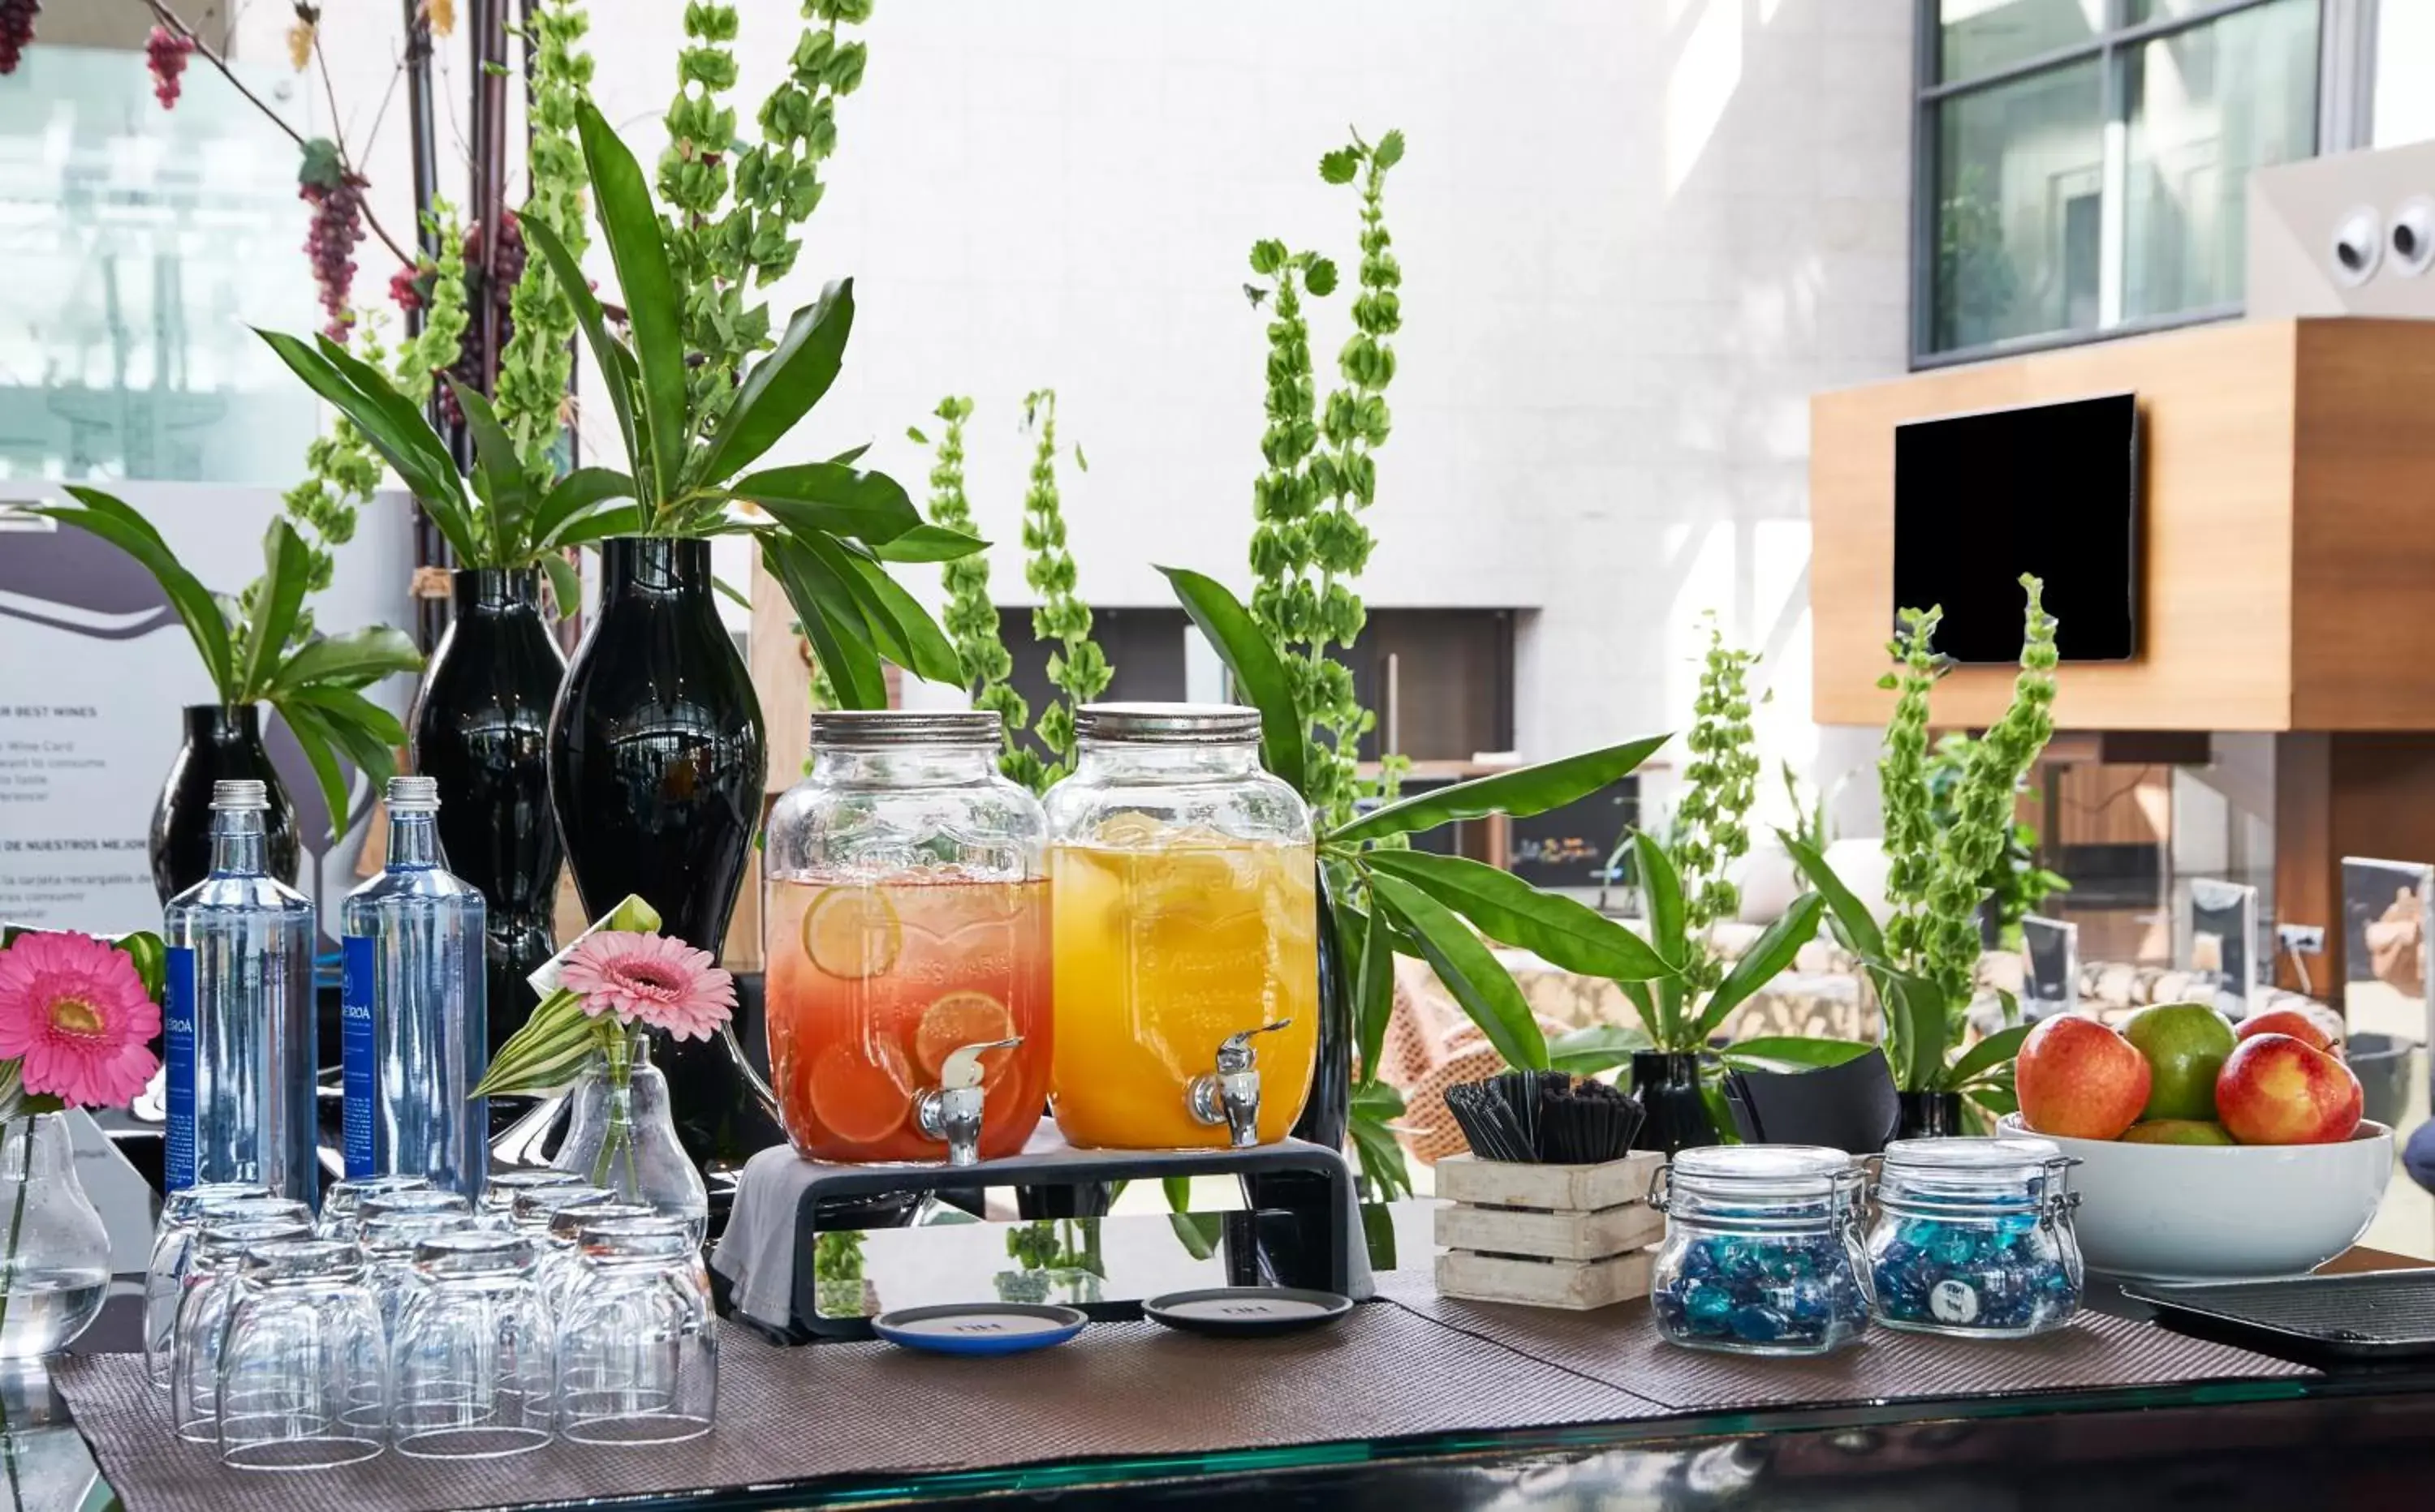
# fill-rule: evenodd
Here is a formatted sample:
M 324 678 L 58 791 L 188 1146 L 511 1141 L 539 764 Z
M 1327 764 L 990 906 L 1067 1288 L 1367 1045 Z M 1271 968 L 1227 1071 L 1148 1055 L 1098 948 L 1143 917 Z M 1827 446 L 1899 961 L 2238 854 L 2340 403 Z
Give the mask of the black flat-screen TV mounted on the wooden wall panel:
M 2016 662 L 2021 575 L 2065 662 L 2138 655 L 2138 397 L 1894 426 L 1894 609 L 1946 611 L 1936 650 Z

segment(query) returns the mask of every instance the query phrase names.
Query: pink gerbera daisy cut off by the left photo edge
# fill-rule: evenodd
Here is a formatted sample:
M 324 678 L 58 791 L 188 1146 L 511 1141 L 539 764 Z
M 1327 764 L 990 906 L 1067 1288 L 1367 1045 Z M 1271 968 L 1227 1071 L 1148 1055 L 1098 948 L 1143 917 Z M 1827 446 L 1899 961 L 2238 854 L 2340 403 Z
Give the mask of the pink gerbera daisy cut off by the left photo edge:
M 90 935 L 19 935 L 0 950 L 0 1059 L 24 1062 L 24 1091 L 124 1108 L 161 1064 L 144 1045 L 158 1032 L 127 952 Z

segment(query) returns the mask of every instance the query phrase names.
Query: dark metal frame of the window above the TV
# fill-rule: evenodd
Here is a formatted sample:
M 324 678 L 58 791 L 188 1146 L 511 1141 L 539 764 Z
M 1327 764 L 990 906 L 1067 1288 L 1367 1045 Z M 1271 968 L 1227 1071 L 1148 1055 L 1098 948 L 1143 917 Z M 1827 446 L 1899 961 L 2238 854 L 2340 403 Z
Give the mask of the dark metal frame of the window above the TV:
M 2097 61 L 2097 122 L 2099 131 L 2109 136 L 2106 156 L 2101 163 L 2104 187 L 2101 187 L 2101 214 L 2116 226 L 2109 239 L 2109 253 L 2121 258 L 2121 231 L 2118 217 L 2121 205 L 2121 153 L 2118 127 L 2126 127 L 2126 100 L 2123 100 L 2123 58 L 2140 46 L 2157 41 L 2162 37 L 2174 37 L 2179 32 L 2192 32 L 2199 27 L 2211 27 L 2226 17 L 2240 15 L 2245 10 L 2260 10 L 2265 5 L 2277 5 L 2279 0 L 2216 0 L 2213 5 L 2199 5 L 2187 15 L 2153 17 L 2145 22 L 2128 22 L 2131 0 L 2104 0 L 2104 27 L 2089 41 L 2075 41 L 2070 46 L 2048 49 L 2028 58 L 2014 58 L 1999 68 L 1987 68 L 1965 78 L 1941 78 L 1943 73 L 1943 19 L 1941 0 L 1914 0 L 1911 15 L 1911 341 L 1909 360 L 1911 370 L 1921 373 L 1929 368 L 1953 368 L 1960 363 L 1980 363 L 1987 358 L 2006 358 L 2036 351 L 2058 351 L 2065 346 L 2089 346 L 2094 341 L 2121 341 L 2128 336 L 2150 336 L 2155 331 L 2174 331 L 2182 326 L 2204 326 L 2211 321 L 2238 319 L 2243 307 L 2238 299 L 2223 304 L 2201 304 L 2194 309 L 2177 309 L 2172 314 L 2150 314 L 2135 319 L 2116 319 L 2114 324 L 2099 324 L 2094 329 L 2065 329 L 2065 331 L 2036 331 L 2028 336 L 2006 336 L 2002 341 L 1982 341 L 1977 346 L 1955 346 L 1948 351 L 1936 348 L 1936 236 L 1938 236 L 1938 122 L 1946 102 L 1963 95 L 1977 95 L 1985 90 L 2016 83 L 2038 73 L 2050 73 L 2055 68 L 2070 68 L 2075 63 Z M 2338 90 L 2350 83 L 2350 68 L 2335 68 L 2333 63 L 2345 58 L 2352 49 L 2328 46 L 2328 37 L 2342 12 L 2350 12 L 2362 0 L 2316 0 L 2316 136 L 2308 144 L 2308 156 L 2325 151 L 2328 122 L 2325 102 L 2328 90 Z M 2374 0 L 2364 0 L 2374 5 Z M 2335 78 L 2335 75 L 2342 78 Z M 2347 97 L 2347 95 L 2345 95 Z M 2104 273 L 2101 273 L 2104 275 Z M 2114 280 L 2121 280 L 2121 268 L 2111 270 Z M 2099 317 L 2104 319 L 2104 317 Z

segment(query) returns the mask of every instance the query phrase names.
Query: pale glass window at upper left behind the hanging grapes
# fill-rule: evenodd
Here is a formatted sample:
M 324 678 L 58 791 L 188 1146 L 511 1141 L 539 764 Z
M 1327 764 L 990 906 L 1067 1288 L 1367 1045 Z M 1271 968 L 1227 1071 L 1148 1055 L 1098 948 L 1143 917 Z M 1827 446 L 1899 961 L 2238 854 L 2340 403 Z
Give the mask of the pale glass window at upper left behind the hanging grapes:
M 241 71 L 317 131 L 285 61 Z M 321 324 L 307 214 L 295 144 L 209 68 L 168 112 L 131 49 L 27 49 L 0 80 L 0 477 L 295 482 L 314 399 L 246 326 Z

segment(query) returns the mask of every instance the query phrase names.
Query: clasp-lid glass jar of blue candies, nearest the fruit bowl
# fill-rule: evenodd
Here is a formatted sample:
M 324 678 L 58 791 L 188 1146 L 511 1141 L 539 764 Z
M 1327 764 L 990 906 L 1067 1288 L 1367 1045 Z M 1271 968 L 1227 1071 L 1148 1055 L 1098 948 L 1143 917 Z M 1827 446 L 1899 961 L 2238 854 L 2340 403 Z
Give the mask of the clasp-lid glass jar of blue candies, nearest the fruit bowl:
M 1894 1139 L 1877 1174 L 1868 1290 L 1887 1327 L 2021 1339 L 2079 1307 L 2070 1188 L 2050 1139 Z

